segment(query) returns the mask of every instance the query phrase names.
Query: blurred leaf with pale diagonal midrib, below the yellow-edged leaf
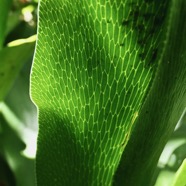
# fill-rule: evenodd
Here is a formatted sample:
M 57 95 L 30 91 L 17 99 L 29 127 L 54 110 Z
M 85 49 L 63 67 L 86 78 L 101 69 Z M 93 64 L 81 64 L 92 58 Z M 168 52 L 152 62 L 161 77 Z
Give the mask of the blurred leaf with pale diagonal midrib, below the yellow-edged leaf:
M 14 183 L 12 186 L 35 185 L 33 158 L 36 151 L 37 114 L 28 94 L 31 62 L 31 59 L 26 62 L 20 71 L 6 96 L 6 104 L 0 103 L 0 113 L 3 115 L 0 120 L 0 154 L 4 155 L 4 159 L 15 174 L 17 184 Z M 4 176 L 3 173 L 6 173 L 5 166 L 0 165 L 0 178 L 1 175 Z M 10 178 L 9 176 L 9 182 Z

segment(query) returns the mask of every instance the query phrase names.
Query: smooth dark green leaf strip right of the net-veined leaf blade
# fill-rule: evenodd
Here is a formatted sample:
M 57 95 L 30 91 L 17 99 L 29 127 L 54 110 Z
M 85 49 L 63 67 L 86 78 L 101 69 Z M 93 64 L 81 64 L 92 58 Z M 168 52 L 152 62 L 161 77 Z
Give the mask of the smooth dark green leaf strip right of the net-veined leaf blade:
M 186 108 L 186 1 L 172 0 L 170 7 L 165 52 L 122 155 L 118 185 L 151 185 L 159 156 Z M 135 179 L 125 179 L 131 175 Z

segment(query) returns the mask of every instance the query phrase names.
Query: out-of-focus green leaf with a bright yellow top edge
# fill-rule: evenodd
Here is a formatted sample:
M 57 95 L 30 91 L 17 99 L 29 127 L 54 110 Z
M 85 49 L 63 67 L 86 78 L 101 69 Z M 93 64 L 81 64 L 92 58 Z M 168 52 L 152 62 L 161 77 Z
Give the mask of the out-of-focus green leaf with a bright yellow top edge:
M 10 90 L 24 63 L 33 55 L 35 37 L 16 40 L 0 51 L 0 101 Z

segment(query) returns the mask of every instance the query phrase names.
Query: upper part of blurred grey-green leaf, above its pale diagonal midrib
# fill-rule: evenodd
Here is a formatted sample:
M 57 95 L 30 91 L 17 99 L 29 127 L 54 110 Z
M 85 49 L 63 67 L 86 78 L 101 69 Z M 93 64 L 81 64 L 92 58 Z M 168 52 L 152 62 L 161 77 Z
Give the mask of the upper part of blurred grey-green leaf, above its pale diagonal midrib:
M 29 96 L 32 57 L 25 63 L 4 102 L 24 127 L 37 131 L 37 110 Z M 21 103 L 21 104 L 20 104 Z

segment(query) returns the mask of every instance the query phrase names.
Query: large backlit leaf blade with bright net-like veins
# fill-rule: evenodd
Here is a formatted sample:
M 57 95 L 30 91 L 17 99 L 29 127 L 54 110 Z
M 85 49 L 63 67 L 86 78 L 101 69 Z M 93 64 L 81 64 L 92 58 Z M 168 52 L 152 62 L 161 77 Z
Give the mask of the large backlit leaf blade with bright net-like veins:
M 40 1 L 31 74 L 38 186 L 112 184 L 166 51 L 169 9 L 170 1 Z

